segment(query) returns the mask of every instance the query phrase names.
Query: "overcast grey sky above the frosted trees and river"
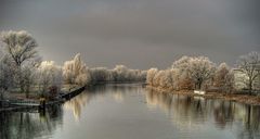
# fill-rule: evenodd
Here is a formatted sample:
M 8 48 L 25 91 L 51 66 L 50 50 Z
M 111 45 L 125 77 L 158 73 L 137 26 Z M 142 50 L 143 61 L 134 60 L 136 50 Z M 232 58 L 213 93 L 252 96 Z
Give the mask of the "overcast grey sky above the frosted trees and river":
M 0 0 L 0 30 L 28 30 L 44 60 L 166 68 L 181 55 L 233 65 L 260 51 L 259 0 Z

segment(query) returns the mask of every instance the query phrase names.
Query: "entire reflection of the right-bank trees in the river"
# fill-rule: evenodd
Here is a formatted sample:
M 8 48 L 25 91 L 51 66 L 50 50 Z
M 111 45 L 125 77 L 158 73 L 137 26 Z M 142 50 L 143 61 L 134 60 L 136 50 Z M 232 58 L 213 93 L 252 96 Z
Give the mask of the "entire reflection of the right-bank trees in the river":
M 147 90 L 146 102 L 148 108 L 160 108 L 170 115 L 172 123 L 178 128 L 204 128 L 206 121 L 213 119 L 218 128 L 224 129 L 226 125 L 232 127 L 237 122 L 245 129 L 239 134 L 247 137 L 259 132 L 260 108 L 223 101 L 207 100 L 196 97 L 186 97 L 172 93 L 155 92 Z M 213 117 L 213 118 L 212 118 Z M 236 123 L 234 123 L 236 122 Z M 248 134 L 248 131 L 251 131 Z M 243 135 L 239 135 L 243 137 Z

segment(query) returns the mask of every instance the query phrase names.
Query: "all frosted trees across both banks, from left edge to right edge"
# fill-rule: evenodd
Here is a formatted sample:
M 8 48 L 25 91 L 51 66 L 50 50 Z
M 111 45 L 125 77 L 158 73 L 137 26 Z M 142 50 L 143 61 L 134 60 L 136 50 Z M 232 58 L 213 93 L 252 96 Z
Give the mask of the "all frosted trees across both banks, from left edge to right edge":
M 260 54 L 250 52 L 238 59 L 236 67 L 217 65 L 206 56 L 182 56 L 167 70 L 131 70 L 125 65 L 88 67 L 78 53 L 63 66 L 42 61 L 36 39 L 27 31 L 2 31 L 0 37 L 0 99 L 18 90 L 29 96 L 58 91 L 62 85 L 88 86 L 99 83 L 145 81 L 168 90 L 218 89 L 233 92 L 236 86 L 249 93 L 260 89 Z M 240 81 L 239 81 L 240 80 Z

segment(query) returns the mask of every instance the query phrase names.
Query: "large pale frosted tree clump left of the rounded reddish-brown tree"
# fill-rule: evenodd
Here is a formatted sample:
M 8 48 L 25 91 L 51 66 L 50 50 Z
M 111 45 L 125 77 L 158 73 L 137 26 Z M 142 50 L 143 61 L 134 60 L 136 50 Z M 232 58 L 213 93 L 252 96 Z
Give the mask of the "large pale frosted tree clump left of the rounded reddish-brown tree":
M 216 66 L 205 56 L 182 56 L 173 62 L 170 70 L 147 72 L 147 84 L 170 89 L 202 89 L 212 78 Z

